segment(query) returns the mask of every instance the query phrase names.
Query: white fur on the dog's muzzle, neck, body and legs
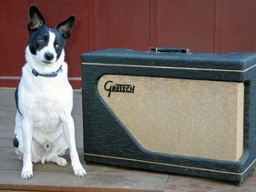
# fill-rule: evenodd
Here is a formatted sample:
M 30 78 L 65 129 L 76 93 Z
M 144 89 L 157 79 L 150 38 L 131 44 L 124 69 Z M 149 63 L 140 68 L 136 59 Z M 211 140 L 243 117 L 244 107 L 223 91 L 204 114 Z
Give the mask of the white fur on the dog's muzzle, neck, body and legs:
M 47 47 L 41 52 L 52 49 Z M 17 112 L 15 127 L 19 141 L 16 153 L 23 158 L 21 177 L 32 177 L 32 162 L 52 161 L 66 166 L 67 161 L 59 156 L 68 148 L 75 175 L 83 177 L 87 173 L 76 150 L 75 127 L 71 116 L 72 87 L 67 77 L 64 50 L 58 61 L 50 65 L 40 62 L 41 53 L 32 55 L 28 46 L 25 54 L 27 63 L 22 68 L 18 91 L 18 107 L 22 115 Z M 32 74 L 32 68 L 39 73 L 50 73 L 56 72 L 61 65 L 62 72 L 56 77 Z

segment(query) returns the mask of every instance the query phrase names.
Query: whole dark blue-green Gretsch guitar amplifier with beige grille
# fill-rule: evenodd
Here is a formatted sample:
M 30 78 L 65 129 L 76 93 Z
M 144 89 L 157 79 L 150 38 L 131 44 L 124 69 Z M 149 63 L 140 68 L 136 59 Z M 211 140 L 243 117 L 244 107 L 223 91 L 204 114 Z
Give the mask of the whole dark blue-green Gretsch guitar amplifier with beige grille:
M 256 54 L 155 50 L 81 55 L 85 161 L 242 183 L 256 164 Z

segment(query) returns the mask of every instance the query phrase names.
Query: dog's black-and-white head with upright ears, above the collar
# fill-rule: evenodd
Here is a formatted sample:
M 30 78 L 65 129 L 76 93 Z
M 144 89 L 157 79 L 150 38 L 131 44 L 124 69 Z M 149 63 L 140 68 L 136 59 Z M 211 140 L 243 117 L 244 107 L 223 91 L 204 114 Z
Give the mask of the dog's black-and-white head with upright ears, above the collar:
M 62 21 L 56 28 L 47 28 L 42 14 L 36 6 L 29 10 L 29 40 L 31 54 L 41 64 L 54 64 L 63 54 L 65 41 L 72 33 L 75 16 Z

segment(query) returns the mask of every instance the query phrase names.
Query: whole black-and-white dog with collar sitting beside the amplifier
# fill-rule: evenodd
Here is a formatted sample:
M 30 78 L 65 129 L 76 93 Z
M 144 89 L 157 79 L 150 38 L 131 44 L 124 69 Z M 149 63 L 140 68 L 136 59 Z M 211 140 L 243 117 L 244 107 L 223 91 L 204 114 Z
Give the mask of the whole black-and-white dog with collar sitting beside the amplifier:
M 72 87 L 68 80 L 64 46 L 69 39 L 75 16 L 56 28 L 46 27 L 39 9 L 29 9 L 26 64 L 15 92 L 17 114 L 13 146 L 23 160 L 22 179 L 31 179 L 33 163 L 54 162 L 66 166 L 61 157 L 66 150 L 75 175 L 87 174 L 76 150 L 75 127 L 71 116 Z

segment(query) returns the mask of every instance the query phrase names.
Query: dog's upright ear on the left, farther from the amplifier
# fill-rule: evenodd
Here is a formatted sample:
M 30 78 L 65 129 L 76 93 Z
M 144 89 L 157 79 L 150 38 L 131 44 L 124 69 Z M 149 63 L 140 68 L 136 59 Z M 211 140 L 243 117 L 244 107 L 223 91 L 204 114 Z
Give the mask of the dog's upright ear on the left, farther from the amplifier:
M 32 5 L 29 9 L 28 31 L 36 31 L 45 24 L 42 14 L 36 6 Z

